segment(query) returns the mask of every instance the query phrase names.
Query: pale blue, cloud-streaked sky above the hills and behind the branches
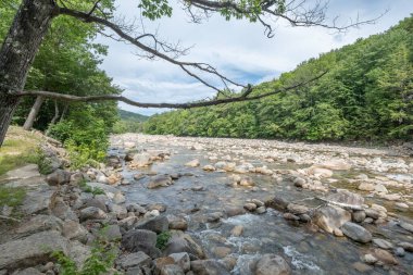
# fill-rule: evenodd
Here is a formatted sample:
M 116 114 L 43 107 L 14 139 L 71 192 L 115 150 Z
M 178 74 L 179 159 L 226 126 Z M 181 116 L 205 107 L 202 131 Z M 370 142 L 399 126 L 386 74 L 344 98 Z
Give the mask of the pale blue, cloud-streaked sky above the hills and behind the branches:
M 354 42 L 360 37 L 381 33 L 413 13 L 413 0 L 330 0 L 326 23 L 336 16 L 339 24 L 359 17 L 371 20 L 385 13 L 373 25 L 337 33 L 323 27 L 291 27 L 278 21 L 275 35 L 267 38 L 264 28 L 247 21 L 225 21 L 213 15 L 202 24 L 191 23 L 179 2 L 170 0 L 172 17 L 154 22 L 143 20 L 145 30 L 162 40 L 190 47 L 182 61 L 206 62 L 241 84 L 259 84 L 293 70 L 301 62 L 321 53 Z M 118 0 L 116 16 L 140 25 L 139 0 Z M 162 60 L 146 60 L 130 45 L 99 36 L 97 41 L 109 46 L 103 68 L 113 83 L 124 89 L 123 96 L 140 102 L 188 102 L 213 96 L 214 90 L 189 77 L 176 65 Z M 221 87 L 222 88 L 222 87 Z M 165 109 L 140 109 L 120 103 L 123 110 L 152 115 Z

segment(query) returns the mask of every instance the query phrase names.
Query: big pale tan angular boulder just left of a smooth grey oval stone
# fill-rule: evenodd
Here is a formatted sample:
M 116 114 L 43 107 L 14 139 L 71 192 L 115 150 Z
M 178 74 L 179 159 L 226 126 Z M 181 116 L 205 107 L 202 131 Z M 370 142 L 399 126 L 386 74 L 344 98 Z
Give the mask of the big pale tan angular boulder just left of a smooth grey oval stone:
M 326 205 L 314 211 L 313 223 L 327 233 L 340 228 L 351 221 L 350 212 L 334 205 Z

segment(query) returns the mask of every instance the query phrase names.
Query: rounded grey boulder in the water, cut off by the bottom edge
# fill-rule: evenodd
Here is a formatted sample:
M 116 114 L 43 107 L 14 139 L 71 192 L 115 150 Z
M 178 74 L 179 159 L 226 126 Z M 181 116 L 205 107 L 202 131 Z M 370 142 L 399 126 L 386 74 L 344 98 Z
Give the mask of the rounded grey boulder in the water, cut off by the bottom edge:
M 284 258 L 276 254 L 264 254 L 258 262 L 255 275 L 289 275 L 291 268 Z

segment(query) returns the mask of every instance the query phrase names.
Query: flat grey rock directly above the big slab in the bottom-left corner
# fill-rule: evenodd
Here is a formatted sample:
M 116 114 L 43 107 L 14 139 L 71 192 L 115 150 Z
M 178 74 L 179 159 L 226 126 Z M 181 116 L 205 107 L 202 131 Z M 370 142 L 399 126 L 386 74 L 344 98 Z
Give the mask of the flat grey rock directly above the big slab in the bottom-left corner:
M 38 232 L 58 230 L 61 232 L 63 227 L 63 221 L 53 215 L 36 215 L 29 221 L 21 224 L 15 233 L 20 235 L 32 235 Z

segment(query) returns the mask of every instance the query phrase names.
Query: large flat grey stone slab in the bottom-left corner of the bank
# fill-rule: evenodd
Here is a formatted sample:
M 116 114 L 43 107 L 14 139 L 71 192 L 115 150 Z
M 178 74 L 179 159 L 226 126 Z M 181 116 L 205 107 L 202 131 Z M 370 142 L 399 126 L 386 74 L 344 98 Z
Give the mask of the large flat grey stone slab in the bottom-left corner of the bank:
M 51 260 L 51 252 L 67 253 L 67 240 L 59 232 L 41 232 L 0 245 L 0 270 L 34 266 Z

